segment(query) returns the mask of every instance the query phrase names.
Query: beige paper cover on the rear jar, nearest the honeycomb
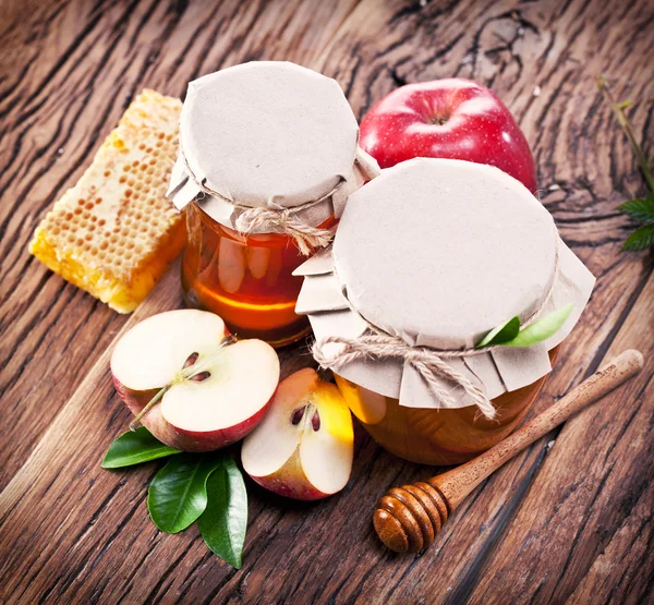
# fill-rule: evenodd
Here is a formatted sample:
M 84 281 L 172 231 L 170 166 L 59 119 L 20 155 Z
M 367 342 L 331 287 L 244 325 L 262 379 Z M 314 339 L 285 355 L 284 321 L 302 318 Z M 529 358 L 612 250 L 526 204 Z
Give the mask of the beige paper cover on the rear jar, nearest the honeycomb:
M 311 205 L 310 222 L 319 223 L 340 216 L 347 194 L 371 178 L 368 169 L 378 172 L 358 141 L 356 120 L 335 80 L 289 62 L 235 65 L 189 84 L 169 196 L 181 209 L 210 192 L 201 206 L 227 226 L 239 206 Z M 346 195 L 334 208 L 329 202 L 340 190 Z

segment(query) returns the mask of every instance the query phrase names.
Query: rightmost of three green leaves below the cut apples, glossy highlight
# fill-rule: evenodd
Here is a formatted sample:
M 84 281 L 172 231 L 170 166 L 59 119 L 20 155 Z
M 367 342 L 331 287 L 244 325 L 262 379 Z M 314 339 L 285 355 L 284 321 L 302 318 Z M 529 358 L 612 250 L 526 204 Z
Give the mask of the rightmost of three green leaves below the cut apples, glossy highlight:
M 209 504 L 197 524 L 206 545 L 240 569 L 247 529 L 247 492 L 241 471 L 231 458 L 207 483 Z

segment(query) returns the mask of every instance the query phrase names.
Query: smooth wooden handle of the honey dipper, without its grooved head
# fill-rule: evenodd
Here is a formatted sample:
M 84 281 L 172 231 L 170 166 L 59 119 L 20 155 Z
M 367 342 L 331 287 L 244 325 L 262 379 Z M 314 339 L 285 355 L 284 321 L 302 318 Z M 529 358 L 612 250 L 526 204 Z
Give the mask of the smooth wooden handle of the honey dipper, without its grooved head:
M 474 460 L 427 481 L 447 500 L 450 510 L 459 504 L 489 474 L 499 469 L 525 447 L 540 439 L 577 413 L 579 410 L 604 397 L 643 367 L 643 355 L 634 349 L 620 353 L 606 366 L 574 387 L 554 406 L 538 414 Z

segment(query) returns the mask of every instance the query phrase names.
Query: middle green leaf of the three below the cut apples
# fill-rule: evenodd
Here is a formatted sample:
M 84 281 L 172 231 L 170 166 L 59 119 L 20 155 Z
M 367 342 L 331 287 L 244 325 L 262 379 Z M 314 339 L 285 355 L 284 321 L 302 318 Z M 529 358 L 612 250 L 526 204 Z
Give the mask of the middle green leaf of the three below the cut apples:
M 185 453 L 171 458 L 147 491 L 147 509 L 155 525 L 178 533 L 193 523 L 207 506 L 207 479 L 221 465 L 221 457 Z

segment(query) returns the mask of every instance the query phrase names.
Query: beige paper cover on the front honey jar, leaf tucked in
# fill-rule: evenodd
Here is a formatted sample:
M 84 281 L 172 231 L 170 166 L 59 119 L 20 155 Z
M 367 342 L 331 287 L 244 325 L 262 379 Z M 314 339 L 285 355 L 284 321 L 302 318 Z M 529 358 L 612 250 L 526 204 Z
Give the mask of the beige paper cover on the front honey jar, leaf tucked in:
M 520 182 L 494 167 L 426 158 L 384 170 L 352 194 L 331 257 L 296 273 L 305 276 L 296 311 L 310 315 L 318 340 L 358 338 L 372 326 L 411 347 L 471 348 L 510 317 L 573 303 L 545 342 L 447 360 L 489 398 L 549 372 L 547 351 L 572 329 L 594 283 Z M 440 407 L 400 361 L 356 360 L 339 373 L 403 406 Z M 470 404 L 459 395 L 459 407 Z

